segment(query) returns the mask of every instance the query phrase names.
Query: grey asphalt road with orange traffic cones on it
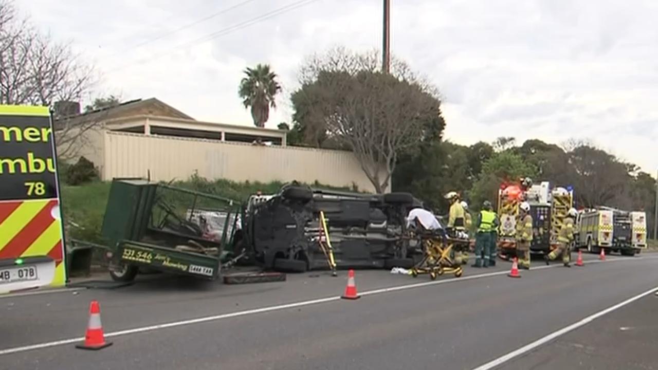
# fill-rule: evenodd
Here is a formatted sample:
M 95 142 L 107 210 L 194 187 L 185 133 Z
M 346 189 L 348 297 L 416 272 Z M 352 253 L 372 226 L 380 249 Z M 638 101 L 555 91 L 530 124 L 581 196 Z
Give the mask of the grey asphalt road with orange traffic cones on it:
M 506 276 L 509 263 L 435 282 L 357 271 L 355 301 L 338 298 L 344 276 L 326 273 L 242 286 L 145 277 L 0 298 L 0 369 L 474 369 L 655 288 L 657 257 L 538 262 L 520 279 Z M 99 352 L 74 348 L 93 299 L 113 342 Z M 656 312 L 651 294 L 496 368 L 656 369 Z M 34 344 L 45 348 L 24 348 Z

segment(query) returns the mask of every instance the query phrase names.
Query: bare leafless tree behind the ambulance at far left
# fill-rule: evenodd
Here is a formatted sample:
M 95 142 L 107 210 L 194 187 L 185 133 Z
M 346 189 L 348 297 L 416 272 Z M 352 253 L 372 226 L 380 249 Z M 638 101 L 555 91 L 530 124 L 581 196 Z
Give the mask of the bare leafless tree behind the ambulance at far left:
M 91 66 L 82 63 L 67 43 L 36 30 L 18 16 L 12 0 L 0 0 L 0 103 L 53 106 L 57 101 L 79 102 L 95 85 Z M 74 157 L 88 130 L 97 121 L 57 124 L 61 159 Z

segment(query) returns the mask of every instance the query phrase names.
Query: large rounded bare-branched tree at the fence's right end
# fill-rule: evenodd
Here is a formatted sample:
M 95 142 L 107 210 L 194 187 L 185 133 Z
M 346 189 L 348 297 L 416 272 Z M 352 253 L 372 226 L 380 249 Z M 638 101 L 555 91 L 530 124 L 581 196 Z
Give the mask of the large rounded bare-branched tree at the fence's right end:
M 443 124 L 438 90 L 393 59 L 382 73 L 376 53 L 335 48 L 302 66 L 301 88 L 293 93 L 295 119 L 355 153 L 379 193 L 390 188 L 399 154 L 418 145 Z

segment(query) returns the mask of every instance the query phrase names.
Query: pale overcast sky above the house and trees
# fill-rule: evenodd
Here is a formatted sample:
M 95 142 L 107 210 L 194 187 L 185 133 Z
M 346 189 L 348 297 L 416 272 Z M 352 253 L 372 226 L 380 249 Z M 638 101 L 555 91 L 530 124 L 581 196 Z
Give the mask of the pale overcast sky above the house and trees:
M 211 122 L 251 124 L 237 95 L 245 66 L 280 75 L 276 127 L 290 122 L 305 55 L 382 43 L 382 0 L 16 1 L 103 72 L 99 93 Z M 658 1 L 391 3 L 392 51 L 442 91 L 449 140 L 586 138 L 658 169 Z

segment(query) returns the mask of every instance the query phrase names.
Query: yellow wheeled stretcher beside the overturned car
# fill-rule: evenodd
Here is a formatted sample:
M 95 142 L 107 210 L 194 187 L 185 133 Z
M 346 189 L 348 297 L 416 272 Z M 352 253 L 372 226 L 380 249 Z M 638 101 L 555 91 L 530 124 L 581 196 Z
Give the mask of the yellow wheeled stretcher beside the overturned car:
M 423 258 L 411 269 L 411 276 L 429 274 L 432 280 L 444 273 L 455 274 L 461 277 L 464 270 L 461 263 L 455 259 L 455 255 L 468 251 L 469 240 L 458 238 L 451 230 L 416 230 L 417 238 L 420 238 Z

